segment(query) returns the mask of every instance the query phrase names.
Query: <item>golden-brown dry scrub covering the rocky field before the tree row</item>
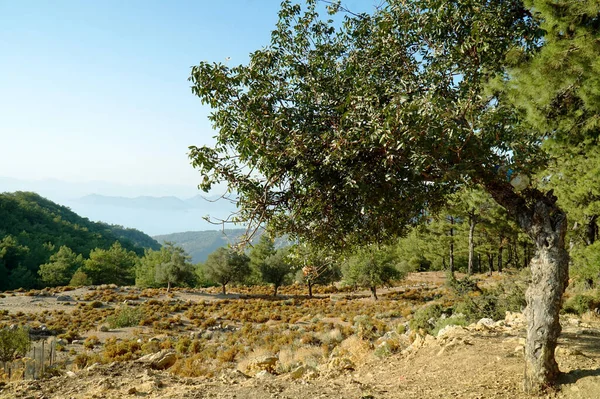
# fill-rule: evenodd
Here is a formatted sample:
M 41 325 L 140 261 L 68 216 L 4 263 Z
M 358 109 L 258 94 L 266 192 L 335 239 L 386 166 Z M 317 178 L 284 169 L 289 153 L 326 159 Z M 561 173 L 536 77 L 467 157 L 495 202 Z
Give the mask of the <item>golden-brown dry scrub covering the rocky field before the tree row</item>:
M 262 287 L 236 287 L 227 297 L 213 289 L 167 294 L 114 286 L 7 292 L 0 298 L 0 328 L 22 325 L 50 330 L 58 338 L 58 361 L 46 377 L 114 362 L 134 367 L 132 361 L 143 356 L 169 353 L 174 358 L 166 372 L 173 378 L 219 381 L 239 372 L 243 378 L 266 373 L 311 381 L 409 356 L 423 346 L 421 337 L 448 325 L 467 326 L 487 314 L 481 313 L 486 306 L 496 313 L 502 306 L 518 306 L 501 293 L 502 287 L 514 291 L 511 284 L 486 279 L 479 283 L 490 287 L 483 293 L 468 284 L 450 287 L 438 274 L 422 274 L 384 290 L 378 301 L 333 287 L 320 287 L 309 299 L 298 286 L 284 287 L 277 298 Z M 490 292 L 504 299 L 493 300 Z M 70 298 L 57 302 L 59 295 Z M 7 375 L 0 379 L 9 382 Z M 16 382 L 18 370 L 11 380 L 5 393 L 24 384 Z

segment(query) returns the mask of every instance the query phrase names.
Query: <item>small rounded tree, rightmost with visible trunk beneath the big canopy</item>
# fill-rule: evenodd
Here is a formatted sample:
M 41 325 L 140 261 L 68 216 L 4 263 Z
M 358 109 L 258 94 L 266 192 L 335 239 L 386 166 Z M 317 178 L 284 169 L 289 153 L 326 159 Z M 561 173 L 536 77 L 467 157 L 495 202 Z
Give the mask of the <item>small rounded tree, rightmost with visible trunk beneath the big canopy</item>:
M 395 267 L 395 258 L 389 248 L 364 247 L 352 254 L 342 266 L 344 280 L 352 285 L 367 287 L 377 300 L 377 287 L 403 278 L 406 272 Z

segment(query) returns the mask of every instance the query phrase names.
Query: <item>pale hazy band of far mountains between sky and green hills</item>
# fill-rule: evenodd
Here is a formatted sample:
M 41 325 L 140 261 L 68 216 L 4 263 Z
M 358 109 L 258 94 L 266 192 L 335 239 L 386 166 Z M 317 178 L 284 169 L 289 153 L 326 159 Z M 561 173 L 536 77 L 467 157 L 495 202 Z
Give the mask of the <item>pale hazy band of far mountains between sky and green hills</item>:
M 219 227 L 203 217 L 224 219 L 235 211 L 235 204 L 230 201 L 214 201 L 217 196 L 203 197 L 196 187 L 188 186 L 126 186 L 0 177 L 0 192 L 14 191 L 36 192 L 92 221 L 135 228 L 149 235 L 216 230 Z

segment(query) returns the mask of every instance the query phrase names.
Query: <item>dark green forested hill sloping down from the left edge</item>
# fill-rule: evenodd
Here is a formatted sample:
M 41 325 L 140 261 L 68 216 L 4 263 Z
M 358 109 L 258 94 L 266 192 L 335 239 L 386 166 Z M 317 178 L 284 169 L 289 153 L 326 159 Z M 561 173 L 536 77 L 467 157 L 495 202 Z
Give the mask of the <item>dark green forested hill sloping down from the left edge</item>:
M 61 246 L 87 257 L 91 250 L 108 249 L 115 241 L 138 255 L 144 248 L 160 248 L 141 231 L 92 222 L 38 194 L 0 193 L 0 275 L 25 280 L 19 286 L 35 285 L 29 280 L 37 278 L 39 266 Z

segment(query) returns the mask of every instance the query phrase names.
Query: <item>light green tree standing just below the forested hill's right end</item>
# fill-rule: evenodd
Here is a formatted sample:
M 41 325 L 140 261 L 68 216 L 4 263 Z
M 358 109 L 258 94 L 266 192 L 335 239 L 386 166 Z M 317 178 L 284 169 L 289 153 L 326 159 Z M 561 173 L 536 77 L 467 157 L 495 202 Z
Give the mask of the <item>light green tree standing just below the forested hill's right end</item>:
M 159 284 L 167 284 L 167 292 L 171 290 L 171 284 L 194 280 L 194 266 L 181 247 L 176 247 L 172 242 L 165 242 L 160 251 L 164 252 L 164 255 L 162 261 L 155 266 L 155 280 Z

